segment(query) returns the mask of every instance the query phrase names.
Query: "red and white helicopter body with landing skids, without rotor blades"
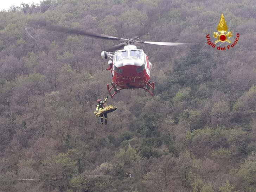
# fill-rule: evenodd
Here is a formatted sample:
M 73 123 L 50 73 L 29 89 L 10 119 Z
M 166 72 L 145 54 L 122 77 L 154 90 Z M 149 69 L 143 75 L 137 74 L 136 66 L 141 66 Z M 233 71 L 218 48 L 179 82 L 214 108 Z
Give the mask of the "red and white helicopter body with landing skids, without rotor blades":
M 149 62 L 147 55 L 141 49 L 134 45 L 124 46 L 123 50 L 115 52 L 111 67 L 113 97 L 121 89 L 142 88 L 154 95 L 154 83 L 151 84 L 150 70 L 152 64 Z

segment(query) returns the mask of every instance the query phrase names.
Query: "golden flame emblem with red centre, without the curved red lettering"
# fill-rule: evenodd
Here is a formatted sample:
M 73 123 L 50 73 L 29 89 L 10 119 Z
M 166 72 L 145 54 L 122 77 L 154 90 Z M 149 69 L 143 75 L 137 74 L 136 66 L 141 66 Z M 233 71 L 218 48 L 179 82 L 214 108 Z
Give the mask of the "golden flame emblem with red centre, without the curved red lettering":
M 220 34 L 218 32 L 213 32 L 213 37 L 218 39 L 216 40 L 214 43 L 218 43 L 220 42 L 225 42 L 227 41 L 228 43 L 231 43 L 230 40 L 228 40 L 227 37 L 232 37 L 232 32 L 228 32 L 228 26 L 226 24 L 226 21 L 224 19 L 224 15 L 223 13 L 220 15 L 220 20 L 219 20 L 219 24 L 217 26 L 217 31 L 220 32 Z

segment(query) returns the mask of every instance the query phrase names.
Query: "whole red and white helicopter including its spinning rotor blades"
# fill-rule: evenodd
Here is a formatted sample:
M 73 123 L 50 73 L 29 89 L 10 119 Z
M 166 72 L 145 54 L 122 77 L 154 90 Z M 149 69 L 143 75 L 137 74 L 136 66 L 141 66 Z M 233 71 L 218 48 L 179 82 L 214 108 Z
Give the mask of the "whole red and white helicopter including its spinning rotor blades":
M 152 44 L 164 46 L 187 46 L 191 44 L 143 41 L 139 38 L 140 36 L 124 39 L 87 32 L 77 28 L 53 26 L 44 22 L 40 24 L 53 31 L 119 41 L 119 44 L 109 47 L 107 49 L 109 51 L 101 52 L 101 57 L 103 59 L 110 59 L 108 61 L 109 68 L 106 70 L 111 72 L 112 77 L 111 87 L 107 84 L 108 94 L 111 98 L 113 98 L 122 89 L 144 89 L 150 95 L 154 96 L 155 83 L 151 82 L 150 74 L 150 71 L 152 70 L 152 63 L 149 62 L 148 56 L 143 51 L 143 47 L 142 49 L 137 49 L 136 45 Z M 25 29 L 28 33 L 27 28 Z M 29 34 L 29 36 L 31 35 Z M 111 52 L 111 50 L 114 50 L 114 52 Z M 112 90 L 114 90 L 113 94 L 111 93 Z

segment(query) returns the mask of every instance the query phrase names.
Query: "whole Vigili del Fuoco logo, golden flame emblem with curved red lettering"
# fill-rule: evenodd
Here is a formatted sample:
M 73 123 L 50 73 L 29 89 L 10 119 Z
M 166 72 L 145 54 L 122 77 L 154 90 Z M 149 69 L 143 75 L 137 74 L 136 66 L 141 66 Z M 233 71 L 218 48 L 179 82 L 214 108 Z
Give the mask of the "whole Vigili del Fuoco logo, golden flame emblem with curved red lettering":
M 225 50 L 231 49 L 237 44 L 237 41 L 239 40 L 239 33 L 236 34 L 236 38 L 232 43 L 230 38 L 233 36 L 233 34 L 231 31 L 228 32 L 228 26 L 226 24 L 223 14 L 221 14 L 220 16 L 219 24 L 217 26 L 217 31 L 218 32 L 213 32 L 213 37 L 217 39 L 214 42 L 211 41 L 210 34 L 207 34 L 206 36 L 207 44 L 213 47 L 214 49 L 216 47 L 217 50 L 225 51 Z M 229 43 L 229 45 L 221 46 L 225 42 Z

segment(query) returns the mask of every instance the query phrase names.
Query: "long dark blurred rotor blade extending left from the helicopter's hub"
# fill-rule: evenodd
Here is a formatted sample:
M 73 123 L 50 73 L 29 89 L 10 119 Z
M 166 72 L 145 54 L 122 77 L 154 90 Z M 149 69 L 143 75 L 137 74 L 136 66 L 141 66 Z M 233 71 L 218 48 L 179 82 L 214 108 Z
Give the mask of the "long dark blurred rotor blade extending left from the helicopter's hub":
M 111 40 L 120 40 L 121 39 L 119 37 L 87 32 L 87 31 L 84 31 L 84 30 L 81 30 L 78 28 L 68 28 L 68 27 L 53 26 L 53 25 L 47 25 L 46 28 L 49 30 L 64 32 L 64 33 L 68 33 L 68 34 L 79 34 L 79 35 L 97 37 L 97 38 L 102 38 L 102 39 L 111 39 Z

